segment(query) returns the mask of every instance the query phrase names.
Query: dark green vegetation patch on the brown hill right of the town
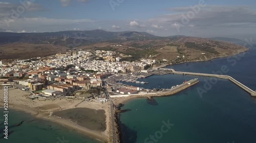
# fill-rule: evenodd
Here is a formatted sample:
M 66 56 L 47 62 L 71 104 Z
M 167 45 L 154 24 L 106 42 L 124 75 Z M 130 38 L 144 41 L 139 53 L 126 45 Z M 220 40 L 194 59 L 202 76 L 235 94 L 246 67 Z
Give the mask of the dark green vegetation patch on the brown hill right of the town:
M 197 50 L 202 50 L 214 54 L 219 54 L 218 51 L 215 50 L 215 48 L 212 48 L 210 44 L 208 43 L 202 43 L 202 44 L 196 44 L 195 42 L 186 42 L 185 46 L 187 48 L 192 48 L 192 49 L 197 49 Z

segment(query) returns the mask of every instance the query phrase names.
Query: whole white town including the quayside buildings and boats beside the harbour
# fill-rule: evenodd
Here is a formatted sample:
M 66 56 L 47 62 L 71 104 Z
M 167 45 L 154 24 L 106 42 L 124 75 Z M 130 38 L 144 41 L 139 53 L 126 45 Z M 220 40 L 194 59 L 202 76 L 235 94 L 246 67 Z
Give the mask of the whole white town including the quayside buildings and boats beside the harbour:
M 155 63 L 155 60 L 144 59 L 139 62 L 121 61 L 121 56 L 114 51 L 70 50 L 44 58 L 1 60 L 0 84 L 26 91 L 32 100 L 65 96 L 105 102 L 108 97 L 104 89 L 112 91 L 115 88 L 106 86 L 104 80 L 112 81 L 126 73 L 145 74 L 147 68 Z M 122 81 L 144 84 L 137 81 L 138 78 L 123 78 Z M 141 91 L 139 87 L 128 88 L 126 94 Z

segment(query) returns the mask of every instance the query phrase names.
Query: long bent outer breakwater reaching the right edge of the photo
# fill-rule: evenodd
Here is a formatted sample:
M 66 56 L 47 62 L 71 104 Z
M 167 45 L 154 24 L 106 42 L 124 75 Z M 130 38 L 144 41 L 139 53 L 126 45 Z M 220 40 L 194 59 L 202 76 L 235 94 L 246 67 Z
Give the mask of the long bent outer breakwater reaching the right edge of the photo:
M 174 69 L 164 69 L 164 68 L 161 68 L 161 70 L 170 70 L 174 74 L 208 76 L 208 77 L 217 77 L 217 78 L 222 78 L 222 79 L 228 79 L 228 80 L 232 81 L 234 84 L 238 85 L 241 89 L 245 90 L 251 96 L 255 96 L 256 97 L 256 92 L 255 91 L 251 90 L 250 88 L 246 87 L 241 82 L 237 81 L 236 79 L 234 79 L 233 77 L 228 76 L 228 75 L 207 74 L 207 73 L 193 73 L 193 72 L 181 72 L 181 71 L 175 71 Z

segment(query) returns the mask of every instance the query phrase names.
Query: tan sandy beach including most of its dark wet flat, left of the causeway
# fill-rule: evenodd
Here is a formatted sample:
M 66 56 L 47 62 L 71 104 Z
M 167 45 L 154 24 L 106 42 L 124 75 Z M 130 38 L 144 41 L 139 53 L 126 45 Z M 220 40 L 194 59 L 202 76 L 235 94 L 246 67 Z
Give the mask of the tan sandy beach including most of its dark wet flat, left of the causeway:
M 4 97 L 4 90 L 0 90 L 0 96 Z M 69 98 L 38 98 L 30 100 L 29 93 L 21 91 L 19 89 L 8 90 L 8 107 L 16 110 L 25 111 L 30 113 L 35 118 L 48 120 L 51 122 L 58 123 L 67 128 L 76 130 L 92 138 L 96 138 L 105 142 L 109 138 L 110 129 L 110 114 L 109 114 L 109 103 L 96 103 L 88 102 L 84 99 L 69 99 Z M 3 98 L 0 99 L 0 107 L 4 106 Z M 85 116 L 87 120 L 78 123 L 72 122 L 70 119 L 60 118 L 52 116 L 53 112 L 66 112 L 65 110 L 79 108 L 83 110 L 80 116 Z M 97 113 L 97 117 L 93 113 Z

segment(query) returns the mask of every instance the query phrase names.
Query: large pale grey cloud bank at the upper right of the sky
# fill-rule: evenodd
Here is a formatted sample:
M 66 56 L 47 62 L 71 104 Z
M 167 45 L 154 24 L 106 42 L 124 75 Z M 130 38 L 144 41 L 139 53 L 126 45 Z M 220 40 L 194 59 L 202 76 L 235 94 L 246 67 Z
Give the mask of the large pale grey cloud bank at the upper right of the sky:
M 200 11 L 196 13 L 193 18 L 187 18 L 186 16 L 189 11 L 192 11 L 190 7 L 171 8 L 169 10 L 175 13 L 157 16 L 155 18 L 149 19 L 148 21 L 151 23 L 158 23 L 165 26 L 167 24 L 175 22 L 182 23 L 183 20 L 188 21 L 188 23 L 185 23 L 188 24 L 187 26 L 189 26 L 190 24 L 190 27 L 191 25 L 197 25 L 202 27 L 225 23 L 256 23 L 256 10 L 250 8 L 249 6 L 207 5 L 204 8 L 201 8 Z

